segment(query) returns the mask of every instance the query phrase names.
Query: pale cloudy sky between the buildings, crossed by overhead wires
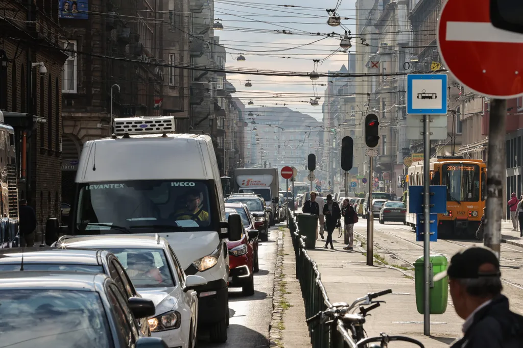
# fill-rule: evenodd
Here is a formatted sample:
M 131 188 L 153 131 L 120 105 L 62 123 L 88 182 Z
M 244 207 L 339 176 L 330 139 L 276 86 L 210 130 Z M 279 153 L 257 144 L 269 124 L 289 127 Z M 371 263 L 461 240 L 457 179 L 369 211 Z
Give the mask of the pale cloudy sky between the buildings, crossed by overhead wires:
M 220 37 L 220 43 L 226 49 L 225 67 L 310 73 L 314 69 L 313 59 L 321 60 L 315 70 L 319 73 L 338 71 L 343 64 L 347 66 L 347 53 L 333 52 L 339 49 L 339 38 L 310 34 L 333 31 L 345 34 L 343 28 L 327 25 L 329 15 L 326 9 L 336 8 L 338 1 L 341 2 L 337 11 L 339 16 L 351 18 L 342 19 L 342 24 L 354 34 L 356 0 L 214 0 L 214 18 L 221 19 L 224 27 L 224 30 L 215 30 L 214 35 Z M 277 30 L 280 32 L 276 32 Z M 292 34 L 283 34 L 282 30 Z M 318 42 L 312 43 L 314 41 Z M 351 43 L 353 48 L 348 52 L 354 54 L 354 40 Z M 305 46 L 295 48 L 300 45 Z M 245 57 L 243 62 L 236 61 L 240 53 Z M 292 110 L 322 120 L 321 110 L 326 87 L 321 85 L 326 84 L 326 77 L 315 81 L 316 88 L 309 77 L 227 74 L 227 80 L 236 88 L 234 97 L 240 98 L 247 107 L 249 100 L 254 102 L 253 107 L 285 104 Z M 244 86 L 247 80 L 251 81 L 252 87 Z M 276 96 L 277 94 L 279 95 Z M 315 96 L 321 97 L 319 106 L 316 107 L 309 103 Z

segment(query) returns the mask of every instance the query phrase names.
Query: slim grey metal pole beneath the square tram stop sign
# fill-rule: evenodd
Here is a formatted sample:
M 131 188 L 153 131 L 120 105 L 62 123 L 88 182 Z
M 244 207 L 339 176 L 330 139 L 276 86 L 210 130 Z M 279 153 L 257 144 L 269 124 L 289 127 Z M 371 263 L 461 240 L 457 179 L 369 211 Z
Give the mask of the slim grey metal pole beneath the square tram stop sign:
M 423 136 L 424 136 L 424 155 L 423 155 L 423 266 L 424 266 L 424 286 L 423 286 L 423 333 L 430 336 L 430 133 L 429 116 L 423 115 Z

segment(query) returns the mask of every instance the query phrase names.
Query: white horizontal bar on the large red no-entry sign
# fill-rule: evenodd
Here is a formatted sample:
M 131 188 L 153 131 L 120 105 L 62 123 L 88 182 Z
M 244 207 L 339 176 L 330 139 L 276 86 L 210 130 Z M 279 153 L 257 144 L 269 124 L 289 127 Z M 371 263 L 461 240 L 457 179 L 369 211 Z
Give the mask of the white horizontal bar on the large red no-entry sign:
M 447 22 L 447 41 L 523 43 L 523 35 L 498 29 L 491 22 Z

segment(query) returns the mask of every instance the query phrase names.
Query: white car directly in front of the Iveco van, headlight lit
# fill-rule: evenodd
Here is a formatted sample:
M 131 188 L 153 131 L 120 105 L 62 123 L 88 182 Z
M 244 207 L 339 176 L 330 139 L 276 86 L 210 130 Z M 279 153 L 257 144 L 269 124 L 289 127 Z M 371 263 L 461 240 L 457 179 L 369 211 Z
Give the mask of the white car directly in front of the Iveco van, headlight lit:
M 207 281 L 186 275 L 165 238 L 158 235 L 100 235 L 62 237 L 57 247 L 103 249 L 118 257 L 137 292 L 153 301 L 156 314 L 149 318 L 151 336 L 169 347 L 193 348 L 198 324 L 196 289 Z

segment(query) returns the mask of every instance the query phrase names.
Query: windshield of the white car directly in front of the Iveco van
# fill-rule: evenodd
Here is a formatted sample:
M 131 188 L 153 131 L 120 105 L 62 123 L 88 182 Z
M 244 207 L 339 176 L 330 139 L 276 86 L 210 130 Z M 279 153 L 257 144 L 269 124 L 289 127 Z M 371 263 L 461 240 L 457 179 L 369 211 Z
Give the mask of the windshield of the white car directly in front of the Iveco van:
M 175 286 L 163 249 L 104 248 L 116 255 L 135 288 Z

